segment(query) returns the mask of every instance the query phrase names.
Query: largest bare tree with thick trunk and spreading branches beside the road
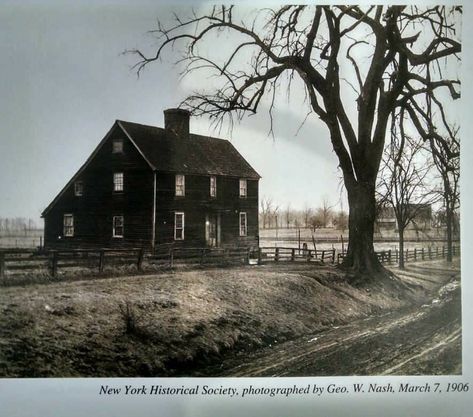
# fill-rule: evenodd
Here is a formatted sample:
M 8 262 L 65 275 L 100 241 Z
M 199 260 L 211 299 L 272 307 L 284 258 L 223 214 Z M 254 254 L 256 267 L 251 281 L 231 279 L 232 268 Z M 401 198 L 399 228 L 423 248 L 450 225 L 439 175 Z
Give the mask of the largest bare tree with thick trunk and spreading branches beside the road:
M 444 6 L 303 5 L 240 18 L 235 7 L 221 6 L 177 16 L 172 27 L 159 25 L 153 55 L 130 52 L 139 56 L 140 73 L 166 48 L 181 44 L 184 75 L 203 71 L 214 77 L 212 88 L 196 91 L 182 104 L 217 121 L 256 113 L 265 96 L 272 117 L 278 88 L 290 91 L 293 81 L 301 81 L 310 111 L 326 125 L 339 160 L 349 202 L 344 265 L 361 278 L 384 271 L 373 232 L 376 178 L 391 114 L 402 108 L 414 128 L 425 130 L 425 97 L 439 89 L 459 96 L 459 81 L 444 78 L 434 64 L 459 59 L 460 14 L 461 7 Z M 225 50 L 215 48 L 215 36 L 222 34 L 235 40 Z

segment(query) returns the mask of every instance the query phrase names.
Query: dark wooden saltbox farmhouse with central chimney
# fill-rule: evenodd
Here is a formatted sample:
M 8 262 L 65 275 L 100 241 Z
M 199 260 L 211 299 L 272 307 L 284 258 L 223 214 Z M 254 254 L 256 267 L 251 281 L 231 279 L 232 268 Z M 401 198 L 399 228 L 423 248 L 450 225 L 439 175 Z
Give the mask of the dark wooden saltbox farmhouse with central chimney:
M 260 176 L 227 140 L 117 120 L 44 210 L 45 246 L 258 245 Z

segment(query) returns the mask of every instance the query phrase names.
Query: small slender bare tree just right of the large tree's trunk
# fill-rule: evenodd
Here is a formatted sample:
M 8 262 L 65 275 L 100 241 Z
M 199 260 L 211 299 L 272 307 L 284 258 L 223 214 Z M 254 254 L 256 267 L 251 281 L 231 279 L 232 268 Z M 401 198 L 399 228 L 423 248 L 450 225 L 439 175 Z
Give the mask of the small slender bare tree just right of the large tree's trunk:
M 438 199 L 432 185 L 432 158 L 424 143 L 415 141 L 397 129 L 393 118 L 391 141 L 382 160 L 378 180 L 380 202 L 396 217 L 399 235 L 399 267 L 404 269 L 404 232 L 409 224 L 427 211 L 432 215 L 432 204 Z

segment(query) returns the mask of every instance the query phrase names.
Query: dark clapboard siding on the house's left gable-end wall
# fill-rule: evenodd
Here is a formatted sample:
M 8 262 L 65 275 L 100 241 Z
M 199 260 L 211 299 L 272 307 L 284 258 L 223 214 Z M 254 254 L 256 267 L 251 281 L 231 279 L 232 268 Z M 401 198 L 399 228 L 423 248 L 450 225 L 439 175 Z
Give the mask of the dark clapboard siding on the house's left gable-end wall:
M 112 153 L 114 138 L 124 140 L 124 152 Z M 113 173 L 124 173 L 124 191 L 113 192 Z M 84 183 L 82 196 L 74 195 L 74 182 Z M 45 245 L 143 246 L 150 245 L 153 172 L 124 133 L 115 127 L 83 172 L 45 215 Z M 74 237 L 63 236 L 63 215 L 74 215 Z M 112 218 L 123 215 L 124 238 L 112 237 Z

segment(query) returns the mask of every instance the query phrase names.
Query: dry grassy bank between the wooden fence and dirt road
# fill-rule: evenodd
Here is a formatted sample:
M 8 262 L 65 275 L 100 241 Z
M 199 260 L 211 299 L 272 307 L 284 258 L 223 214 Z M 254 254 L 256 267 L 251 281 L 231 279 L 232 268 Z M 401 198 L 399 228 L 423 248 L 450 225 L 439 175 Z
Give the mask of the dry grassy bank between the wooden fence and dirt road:
M 334 267 L 281 264 L 3 288 L 0 376 L 198 376 L 226 355 L 422 303 L 438 285 L 408 274 L 360 288 Z

